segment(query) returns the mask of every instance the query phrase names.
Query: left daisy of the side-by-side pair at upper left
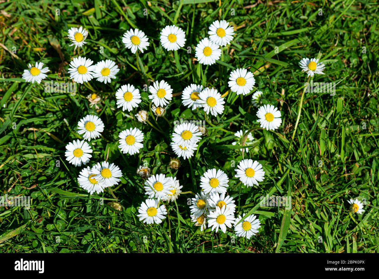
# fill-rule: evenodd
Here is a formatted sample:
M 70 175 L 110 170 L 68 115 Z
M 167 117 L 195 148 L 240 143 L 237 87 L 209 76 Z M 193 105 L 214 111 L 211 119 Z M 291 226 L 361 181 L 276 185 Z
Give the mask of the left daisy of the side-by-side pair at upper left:
M 69 68 L 70 78 L 74 79 L 74 82 L 83 84 L 83 82 L 88 82 L 93 78 L 95 71 L 95 65 L 92 65 L 93 61 L 85 57 L 75 57 Z M 92 66 L 91 66 L 92 65 Z

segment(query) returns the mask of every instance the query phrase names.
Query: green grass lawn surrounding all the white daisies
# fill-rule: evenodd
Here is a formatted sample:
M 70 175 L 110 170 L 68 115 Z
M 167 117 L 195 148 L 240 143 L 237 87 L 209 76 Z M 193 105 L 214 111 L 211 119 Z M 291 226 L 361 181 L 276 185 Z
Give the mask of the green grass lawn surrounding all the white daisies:
M 32 198 L 29 210 L 0 207 L 1 252 L 379 251 L 376 1 L 254 5 L 221 1 L 221 7 L 218 1 L 127 2 L 10 0 L 0 4 L 0 190 L 2 195 Z M 55 15 L 57 8 L 60 16 Z M 217 19 L 235 26 L 235 38 L 224 47 L 219 63 L 200 67 L 193 61 L 194 47 Z M 187 38 L 176 59 L 159 42 L 159 31 L 174 23 Z M 22 72 L 35 61 L 49 66 L 48 81 L 69 82 L 67 63 L 74 57 L 74 47 L 69 47 L 67 30 L 79 25 L 89 30 L 88 44 L 80 54 L 95 62 L 116 61 L 121 68 L 116 80 L 79 85 L 75 96 L 45 93 L 42 83 L 24 83 Z M 121 41 L 122 33 L 135 26 L 150 41 L 148 50 L 139 53 L 139 64 Z M 192 53 L 187 53 L 187 46 Z M 319 57 L 326 64 L 325 75 L 316 75 L 315 82 L 338 84 L 335 96 L 305 93 L 291 142 L 307 80 L 298 66 L 303 57 Z M 191 159 L 193 171 L 188 160 L 181 160 L 178 171 L 168 167 L 174 157 L 170 125 L 180 118 L 205 120 L 204 113 L 186 109 L 180 96 L 174 97 L 166 112 L 168 122 L 159 118 L 156 123 L 150 116 L 164 130 L 162 134 L 136 121 L 136 110 L 117 109 L 114 93 L 125 83 L 142 90 L 144 84 L 164 79 L 174 93 L 197 83 L 224 94 L 229 73 L 237 67 L 254 72 L 255 88 L 244 97 L 229 92 L 222 116 L 208 116 L 209 133 Z M 283 123 L 276 133 L 256 129 L 256 108 L 251 106 L 255 90 L 264 92 L 263 103 L 282 111 Z M 86 99 L 92 91 L 102 96 L 99 110 L 90 108 Z M 140 104 L 146 110 L 147 96 L 148 92 L 142 93 Z M 106 158 L 109 150 L 108 161 L 120 166 L 122 183 L 112 190 L 122 212 L 106 205 L 113 200 L 108 190 L 92 196 L 83 191 L 76 180 L 81 167 L 65 160 L 65 145 L 81 138 L 75 132 L 77 122 L 88 113 L 97 114 L 105 124 L 102 137 L 91 141 L 90 165 Z M 138 127 L 148 137 L 140 155 L 124 155 L 117 148 L 118 133 L 129 127 Z M 241 187 L 234 177 L 242 153 L 231 143 L 240 129 L 255 129 L 255 141 L 244 158 L 262 163 L 266 176 L 259 187 Z M 236 200 L 238 215 L 258 215 L 259 233 L 249 241 L 236 238 L 230 229 L 226 234 L 200 232 L 189 218 L 190 193 L 168 205 L 169 218 L 162 224 L 139 222 L 137 208 L 146 196 L 136 168 L 143 161 L 154 174 L 176 176 L 183 191 L 198 192 L 204 171 L 221 168 L 229 176 L 229 194 Z M 260 197 L 267 193 L 291 196 L 292 208 L 259 207 Z M 346 201 L 356 197 L 366 200 L 363 215 L 349 213 Z

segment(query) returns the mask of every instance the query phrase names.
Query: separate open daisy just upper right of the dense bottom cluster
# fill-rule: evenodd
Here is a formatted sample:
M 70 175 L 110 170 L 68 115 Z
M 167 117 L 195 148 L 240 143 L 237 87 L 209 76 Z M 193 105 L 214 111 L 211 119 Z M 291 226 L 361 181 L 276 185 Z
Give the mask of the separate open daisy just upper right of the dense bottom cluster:
M 235 177 L 238 177 L 248 187 L 252 187 L 253 184 L 258 185 L 258 182 L 265 179 L 265 171 L 263 171 L 262 165 L 258 161 L 245 159 L 238 163 L 237 168 L 235 169 L 237 172 Z

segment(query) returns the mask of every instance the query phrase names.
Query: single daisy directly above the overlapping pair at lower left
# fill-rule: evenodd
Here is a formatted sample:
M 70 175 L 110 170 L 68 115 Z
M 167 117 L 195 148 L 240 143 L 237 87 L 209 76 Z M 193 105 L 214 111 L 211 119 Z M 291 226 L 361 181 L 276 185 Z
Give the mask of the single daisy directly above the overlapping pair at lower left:
M 66 160 L 72 165 L 81 166 L 81 163 L 85 165 L 89 162 L 89 158 L 92 157 L 92 149 L 86 141 L 80 141 L 77 139 L 72 143 L 66 145 Z

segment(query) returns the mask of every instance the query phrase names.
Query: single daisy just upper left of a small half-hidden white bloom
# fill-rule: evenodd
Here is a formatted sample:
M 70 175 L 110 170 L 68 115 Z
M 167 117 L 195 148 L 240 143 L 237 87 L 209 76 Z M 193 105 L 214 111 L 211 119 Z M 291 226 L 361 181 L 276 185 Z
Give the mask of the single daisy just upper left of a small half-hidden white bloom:
M 252 72 L 248 72 L 246 69 L 236 69 L 230 72 L 228 85 L 232 92 L 237 92 L 237 95 L 246 95 L 250 93 L 255 85 L 255 78 Z

